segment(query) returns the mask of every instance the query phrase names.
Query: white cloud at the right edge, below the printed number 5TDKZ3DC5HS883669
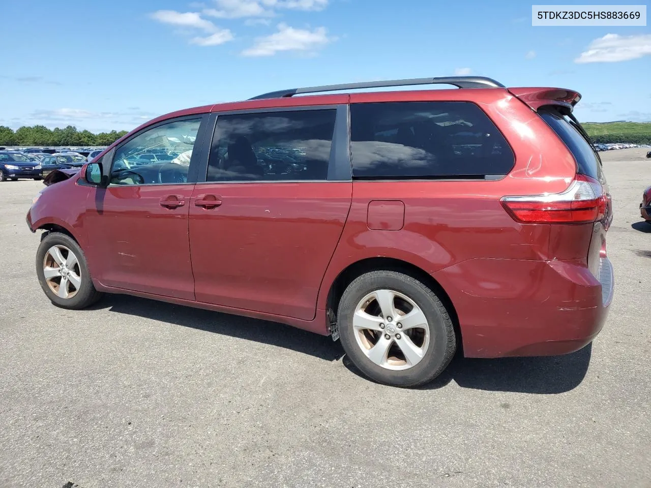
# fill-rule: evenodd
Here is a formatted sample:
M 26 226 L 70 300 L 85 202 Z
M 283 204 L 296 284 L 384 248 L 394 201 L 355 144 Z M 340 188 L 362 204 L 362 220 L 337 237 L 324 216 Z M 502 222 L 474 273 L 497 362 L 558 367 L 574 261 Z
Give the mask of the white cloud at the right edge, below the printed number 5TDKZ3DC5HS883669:
M 618 62 L 651 55 L 651 34 L 620 36 L 606 34 L 590 42 L 574 62 Z

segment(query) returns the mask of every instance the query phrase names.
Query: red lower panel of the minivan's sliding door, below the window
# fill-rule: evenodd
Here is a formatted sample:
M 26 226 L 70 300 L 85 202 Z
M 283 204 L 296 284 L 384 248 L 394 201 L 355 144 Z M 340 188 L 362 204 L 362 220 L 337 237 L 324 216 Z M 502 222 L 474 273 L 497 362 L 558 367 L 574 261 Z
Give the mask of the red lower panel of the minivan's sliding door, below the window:
M 190 206 L 197 301 L 313 319 L 351 191 L 350 182 L 198 184 L 195 197 L 223 203 Z

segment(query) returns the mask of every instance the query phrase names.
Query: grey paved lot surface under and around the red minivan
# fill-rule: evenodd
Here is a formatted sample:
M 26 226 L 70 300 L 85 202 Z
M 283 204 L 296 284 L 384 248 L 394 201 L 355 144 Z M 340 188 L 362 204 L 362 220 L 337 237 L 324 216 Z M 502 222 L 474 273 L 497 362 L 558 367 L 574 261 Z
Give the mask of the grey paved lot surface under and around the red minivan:
M 275 323 L 118 295 L 55 308 L 25 225 L 42 183 L 1 183 L 0 486 L 651 487 L 646 151 L 602 153 L 616 291 L 594 344 L 456 358 L 421 390 Z

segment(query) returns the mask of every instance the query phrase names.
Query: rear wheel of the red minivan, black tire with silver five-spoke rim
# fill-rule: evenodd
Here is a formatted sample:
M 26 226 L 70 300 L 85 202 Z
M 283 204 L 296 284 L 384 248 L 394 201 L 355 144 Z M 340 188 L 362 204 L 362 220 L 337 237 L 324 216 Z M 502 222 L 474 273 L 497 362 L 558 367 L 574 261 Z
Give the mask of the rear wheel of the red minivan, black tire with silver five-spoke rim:
M 391 304 L 397 317 L 389 321 L 380 312 L 378 297 Z M 405 312 L 410 318 L 403 324 L 400 318 L 406 317 Z M 456 351 L 452 320 L 439 297 L 419 280 L 396 271 L 372 271 L 353 280 L 339 302 L 337 323 L 342 347 L 353 364 L 384 385 L 429 383 L 445 370 Z M 365 329 L 367 325 L 372 329 Z M 373 349 L 378 354 L 385 351 L 381 359 L 370 352 L 374 346 L 382 346 Z

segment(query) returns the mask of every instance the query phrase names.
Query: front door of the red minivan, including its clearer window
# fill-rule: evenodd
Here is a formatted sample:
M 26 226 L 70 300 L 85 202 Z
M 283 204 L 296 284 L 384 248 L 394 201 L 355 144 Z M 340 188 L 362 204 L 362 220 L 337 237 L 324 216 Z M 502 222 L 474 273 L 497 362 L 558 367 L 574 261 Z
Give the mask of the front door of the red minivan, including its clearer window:
M 194 299 L 187 226 L 195 185 L 190 170 L 201 150 L 178 141 L 203 133 L 207 119 L 193 115 L 159 122 L 102 157 L 103 165 L 111 165 L 111 183 L 92 187 L 83 223 L 92 243 L 91 271 L 102 284 Z M 139 157 L 152 148 L 178 155 L 176 161 L 190 153 L 190 165 Z

